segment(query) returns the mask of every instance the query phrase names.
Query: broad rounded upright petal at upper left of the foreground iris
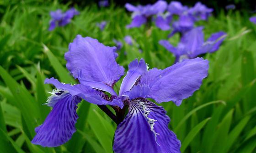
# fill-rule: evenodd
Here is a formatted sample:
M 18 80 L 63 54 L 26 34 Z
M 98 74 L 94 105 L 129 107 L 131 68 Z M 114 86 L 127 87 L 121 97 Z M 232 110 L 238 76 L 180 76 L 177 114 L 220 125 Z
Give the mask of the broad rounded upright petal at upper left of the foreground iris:
M 65 53 L 66 67 L 77 78 L 82 70 L 86 81 L 103 82 L 112 87 L 124 74 L 116 62 L 116 47 L 104 46 L 96 39 L 77 35 Z

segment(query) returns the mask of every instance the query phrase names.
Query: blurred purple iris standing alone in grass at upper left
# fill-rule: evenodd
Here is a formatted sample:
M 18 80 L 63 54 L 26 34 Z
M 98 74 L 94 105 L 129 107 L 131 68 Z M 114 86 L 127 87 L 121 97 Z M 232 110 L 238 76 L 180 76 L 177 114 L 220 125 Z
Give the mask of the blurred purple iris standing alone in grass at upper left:
M 51 11 L 50 15 L 52 20 L 50 21 L 49 31 L 55 29 L 56 26 L 65 26 L 75 15 L 79 15 L 79 11 L 75 8 L 67 10 L 65 13 L 62 13 L 62 10 Z

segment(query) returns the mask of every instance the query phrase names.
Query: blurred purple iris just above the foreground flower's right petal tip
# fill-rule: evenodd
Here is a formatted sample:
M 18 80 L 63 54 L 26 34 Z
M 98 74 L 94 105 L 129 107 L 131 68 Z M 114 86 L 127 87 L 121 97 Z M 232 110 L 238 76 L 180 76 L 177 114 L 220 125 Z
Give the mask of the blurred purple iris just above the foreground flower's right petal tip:
M 203 27 L 199 26 L 185 33 L 185 35 L 181 37 L 181 41 L 177 47 L 172 46 L 170 42 L 166 40 L 161 40 L 159 43 L 176 56 L 176 63 L 184 59 L 196 58 L 207 52 L 212 53 L 217 51 L 222 41 L 224 41 L 225 36 L 225 32 L 219 31 L 213 33 L 208 40 L 204 42 Z

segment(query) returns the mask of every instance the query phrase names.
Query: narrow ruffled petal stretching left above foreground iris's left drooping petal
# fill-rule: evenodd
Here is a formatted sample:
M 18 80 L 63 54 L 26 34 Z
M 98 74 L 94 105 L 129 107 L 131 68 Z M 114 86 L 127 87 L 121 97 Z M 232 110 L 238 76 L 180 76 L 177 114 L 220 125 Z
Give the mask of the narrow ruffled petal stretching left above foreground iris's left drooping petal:
M 100 92 L 92 87 L 85 86 L 82 84 L 70 85 L 60 83 L 57 79 L 50 78 L 45 79 L 45 83 L 53 84 L 57 89 L 68 91 L 72 96 L 78 96 L 85 99 L 87 102 L 96 105 L 112 105 L 123 108 L 123 102 L 120 98 L 113 95 L 108 97 L 105 93 Z

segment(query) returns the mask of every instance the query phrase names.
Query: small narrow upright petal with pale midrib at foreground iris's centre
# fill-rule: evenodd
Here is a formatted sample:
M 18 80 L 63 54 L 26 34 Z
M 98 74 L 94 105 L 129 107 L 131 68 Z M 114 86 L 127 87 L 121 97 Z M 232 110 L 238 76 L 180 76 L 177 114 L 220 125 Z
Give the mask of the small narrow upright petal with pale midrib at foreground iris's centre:
M 128 68 L 128 72 L 123 78 L 123 82 L 119 90 L 119 96 L 121 96 L 124 92 L 130 91 L 135 82 L 138 80 L 139 76 L 143 75 L 147 71 L 147 65 L 143 59 L 140 61 L 135 59 L 128 65 Z

